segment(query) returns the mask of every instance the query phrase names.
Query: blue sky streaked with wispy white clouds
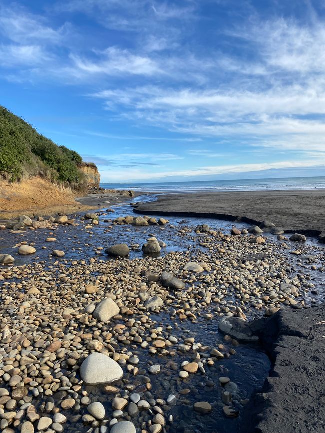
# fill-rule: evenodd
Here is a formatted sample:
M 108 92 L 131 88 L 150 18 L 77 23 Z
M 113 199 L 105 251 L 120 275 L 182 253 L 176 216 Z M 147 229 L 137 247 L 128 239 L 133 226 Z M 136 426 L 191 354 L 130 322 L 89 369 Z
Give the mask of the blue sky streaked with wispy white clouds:
M 0 103 L 102 181 L 325 173 L 321 0 L 0 5 Z

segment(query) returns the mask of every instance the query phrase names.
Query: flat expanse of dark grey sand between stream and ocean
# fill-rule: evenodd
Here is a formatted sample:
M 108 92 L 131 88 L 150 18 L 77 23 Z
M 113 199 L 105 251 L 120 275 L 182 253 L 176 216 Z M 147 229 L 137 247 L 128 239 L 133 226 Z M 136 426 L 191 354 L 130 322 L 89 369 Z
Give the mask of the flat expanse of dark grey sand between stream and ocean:
M 267 219 L 288 232 L 325 235 L 325 190 L 162 194 L 135 212 L 198 216 L 258 224 Z

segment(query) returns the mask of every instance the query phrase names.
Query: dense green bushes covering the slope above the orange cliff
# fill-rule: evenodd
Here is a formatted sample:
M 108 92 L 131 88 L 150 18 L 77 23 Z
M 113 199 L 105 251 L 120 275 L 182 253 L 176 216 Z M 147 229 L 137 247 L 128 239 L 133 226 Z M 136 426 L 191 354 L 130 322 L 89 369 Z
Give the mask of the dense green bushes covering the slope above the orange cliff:
M 39 134 L 0 105 L 0 174 L 11 181 L 41 175 L 52 182 L 79 185 L 81 156 Z

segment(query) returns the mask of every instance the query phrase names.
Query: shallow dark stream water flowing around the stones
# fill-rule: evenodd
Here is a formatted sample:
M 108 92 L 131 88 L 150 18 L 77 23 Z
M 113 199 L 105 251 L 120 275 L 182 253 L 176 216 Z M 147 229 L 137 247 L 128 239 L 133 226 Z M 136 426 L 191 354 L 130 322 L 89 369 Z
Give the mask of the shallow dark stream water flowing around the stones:
M 137 201 L 149 201 L 155 197 L 152 195 L 143 195 L 137 198 Z M 178 236 L 178 230 L 184 226 L 195 227 L 198 224 L 206 223 L 211 228 L 216 230 L 222 230 L 224 233 L 228 233 L 233 226 L 232 222 L 204 219 L 204 218 L 180 218 L 180 217 L 168 217 L 170 222 L 169 225 L 160 226 L 149 226 L 149 227 L 134 227 L 128 225 L 116 225 L 113 229 L 109 228 L 110 223 L 104 223 L 104 219 L 116 218 L 118 216 L 134 215 L 132 207 L 129 205 L 130 201 L 122 204 L 112 206 L 115 209 L 114 213 L 107 213 L 107 215 L 100 215 L 100 223 L 98 226 L 94 226 L 88 231 L 80 230 L 82 226 L 59 226 L 55 229 L 38 229 L 34 231 L 26 230 L 25 233 L 10 234 L 7 231 L 0 232 L 0 236 L 3 238 L 0 240 L 0 251 L 9 253 L 15 256 L 15 265 L 19 264 L 31 264 L 32 262 L 44 261 L 48 265 L 53 264 L 56 261 L 61 260 L 88 260 L 91 257 L 98 256 L 105 260 L 108 259 L 104 254 L 104 249 L 115 243 L 126 243 L 129 246 L 138 244 L 138 247 L 133 247 L 130 253 L 130 258 L 145 258 L 141 251 L 142 244 L 146 241 L 149 234 L 153 234 L 159 240 L 166 242 L 167 246 L 161 250 L 160 255 L 164 255 L 170 251 L 187 251 L 193 250 L 194 248 L 203 247 L 198 246 L 198 240 L 202 235 L 189 232 L 189 236 L 180 238 Z M 102 212 L 104 209 L 102 209 Z M 82 215 L 76 215 L 76 222 Z M 163 216 L 163 215 L 161 215 Z M 159 216 L 156 216 L 159 218 Z M 243 228 L 248 225 L 245 223 L 238 223 L 238 227 Z M 48 236 L 57 237 L 58 241 L 49 243 L 45 242 Z M 270 236 L 273 241 L 278 244 L 275 235 L 265 233 L 266 236 Z M 12 249 L 12 245 L 27 241 L 35 242 L 37 253 L 29 256 L 15 255 L 15 249 Z M 290 248 L 295 248 L 296 245 L 289 243 Z M 317 265 L 320 266 L 321 260 L 324 259 L 324 247 L 321 246 L 316 239 L 308 239 L 307 245 L 312 247 L 312 254 L 318 256 Z M 42 246 L 46 246 L 46 249 L 42 249 Z M 102 247 L 103 250 L 98 250 L 98 247 Z M 317 270 L 312 270 L 310 264 L 306 264 L 301 260 L 300 256 L 290 255 L 290 250 L 283 250 L 278 247 L 274 247 L 274 254 L 284 255 L 288 262 L 292 265 L 292 273 L 296 275 L 299 271 L 303 271 L 305 275 L 310 278 L 315 288 L 318 291 L 318 295 L 312 295 L 310 292 L 306 294 L 307 302 L 312 301 L 320 302 L 324 300 L 325 292 L 325 273 Z M 65 251 L 65 256 L 62 259 L 49 256 L 49 253 L 53 249 L 62 249 Z M 213 306 L 209 306 L 205 312 L 213 313 Z M 248 312 L 246 312 L 248 313 Z M 254 312 L 255 314 L 255 312 Z M 249 316 L 249 314 L 247 314 Z M 178 371 L 180 370 L 180 364 L 183 361 L 191 361 L 194 358 L 194 352 L 181 353 L 175 351 L 175 355 L 161 356 L 158 354 L 149 354 L 147 349 L 143 349 L 140 346 L 132 345 L 133 354 L 138 354 L 139 364 L 137 367 L 141 370 L 142 368 L 147 369 L 149 364 L 160 364 L 161 372 L 156 375 L 150 375 L 152 390 L 151 393 L 145 391 L 144 398 L 149 399 L 150 396 L 155 399 L 161 398 L 166 399 L 169 394 L 178 394 L 181 389 L 190 388 L 191 392 L 186 395 L 180 395 L 177 399 L 176 406 L 166 411 L 167 415 L 172 414 L 174 422 L 166 427 L 168 432 L 218 432 L 228 433 L 237 432 L 238 426 L 241 421 L 241 415 L 238 418 L 227 419 L 222 414 L 222 400 L 221 391 L 222 388 L 219 386 L 218 378 L 220 376 L 228 376 L 231 381 L 235 382 L 238 386 L 238 393 L 234 396 L 235 406 L 242 409 L 243 405 L 240 403 L 242 399 L 247 399 L 253 393 L 254 390 L 261 388 L 265 377 L 270 368 L 270 361 L 264 351 L 257 344 L 240 344 L 239 346 L 232 346 L 228 343 L 224 343 L 222 334 L 218 331 L 218 320 L 219 317 L 213 316 L 212 320 L 206 320 L 203 317 L 198 317 L 194 323 L 186 320 L 184 322 L 175 322 L 166 313 L 161 312 L 159 315 L 151 314 L 150 316 L 156 323 L 154 326 L 161 325 L 163 329 L 167 326 L 172 326 L 172 335 L 178 339 L 186 337 L 194 337 L 197 342 L 207 346 L 217 346 L 217 344 L 225 344 L 226 347 L 232 347 L 236 350 L 236 354 L 228 359 L 222 359 L 217 361 L 213 366 L 205 365 L 206 374 L 202 375 L 196 373 L 190 375 L 185 380 L 180 380 L 178 377 Z M 148 332 L 148 331 L 146 331 Z M 122 345 L 122 344 L 121 344 Z M 128 347 L 128 346 L 126 346 Z M 201 356 L 202 358 L 202 356 Z M 176 365 L 177 368 L 173 368 Z M 124 376 L 124 379 L 127 375 Z M 130 383 L 137 381 L 137 377 L 130 377 Z M 140 381 L 141 382 L 141 381 Z M 139 383 L 133 392 L 141 390 L 143 384 Z M 106 407 L 106 414 L 108 419 L 111 418 L 112 408 L 110 401 L 114 397 L 112 394 L 107 394 L 100 387 L 89 388 L 92 395 L 96 396 L 99 401 L 102 401 Z M 41 396 L 38 398 L 40 401 Z M 199 415 L 193 411 L 193 403 L 196 401 L 207 401 L 212 404 L 213 412 L 207 415 Z M 72 410 L 73 412 L 73 410 Z M 89 427 L 83 425 L 81 420 L 74 420 L 71 418 L 71 411 L 62 411 L 69 416 L 69 421 L 65 424 L 64 432 L 85 432 Z M 81 407 L 81 411 L 78 411 L 75 415 L 87 413 L 86 407 Z M 240 411 L 242 413 L 242 410 Z M 148 419 L 148 415 L 141 414 Z M 133 420 L 137 427 L 140 427 L 136 423 L 136 419 Z M 167 418 L 167 417 L 166 417 Z

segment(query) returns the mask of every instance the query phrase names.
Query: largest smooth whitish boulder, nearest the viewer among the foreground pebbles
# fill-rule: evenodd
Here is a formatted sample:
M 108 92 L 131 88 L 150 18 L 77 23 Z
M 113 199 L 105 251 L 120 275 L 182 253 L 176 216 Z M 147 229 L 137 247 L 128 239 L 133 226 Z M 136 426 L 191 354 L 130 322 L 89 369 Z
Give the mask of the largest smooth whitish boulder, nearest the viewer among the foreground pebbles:
M 123 370 L 109 356 L 93 352 L 80 367 L 81 379 L 89 385 L 109 384 L 123 377 Z

